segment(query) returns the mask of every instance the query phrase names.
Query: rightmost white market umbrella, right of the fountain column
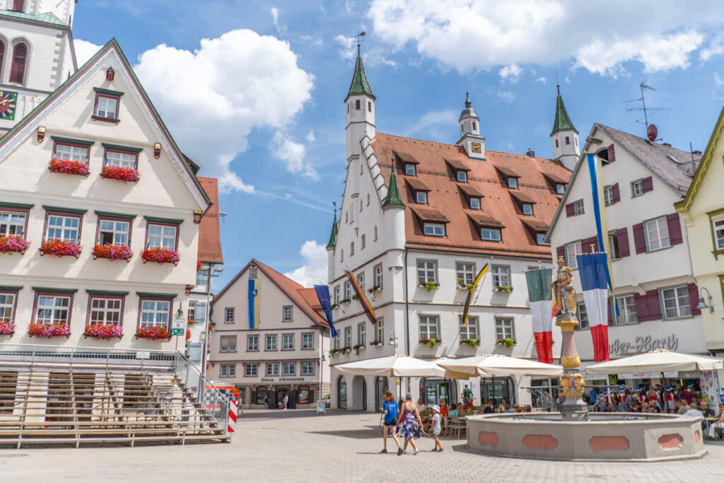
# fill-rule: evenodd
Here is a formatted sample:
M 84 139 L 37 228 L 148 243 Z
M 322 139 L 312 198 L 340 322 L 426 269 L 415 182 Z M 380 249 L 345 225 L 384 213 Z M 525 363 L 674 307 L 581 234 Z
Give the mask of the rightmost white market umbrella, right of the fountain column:
M 626 374 L 631 372 L 714 371 L 723 369 L 722 360 L 656 349 L 586 367 L 586 374 Z

